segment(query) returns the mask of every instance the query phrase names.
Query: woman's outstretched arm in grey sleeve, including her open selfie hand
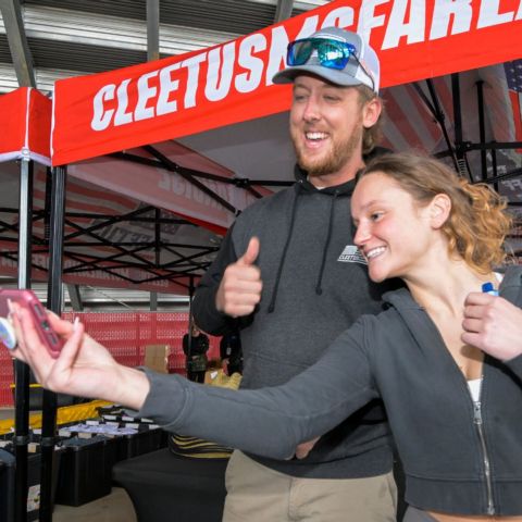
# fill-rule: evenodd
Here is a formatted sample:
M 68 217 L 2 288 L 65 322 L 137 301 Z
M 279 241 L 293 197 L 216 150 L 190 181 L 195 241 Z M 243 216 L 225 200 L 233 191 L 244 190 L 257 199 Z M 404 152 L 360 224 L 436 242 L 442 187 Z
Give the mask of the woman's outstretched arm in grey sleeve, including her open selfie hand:
M 55 315 L 49 322 L 67 339 L 58 359 L 40 341 L 33 318 L 15 308 L 18 347 L 13 355 L 32 366 L 45 388 L 117 402 L 167 431 L 265 457 L 291 457 L 299 443 L 326 433 L 378 395 L 363 348 L 363 323 L 341 334 L 315 364 L 285 385 L 231 390 L 124 366 L 82 324 Z

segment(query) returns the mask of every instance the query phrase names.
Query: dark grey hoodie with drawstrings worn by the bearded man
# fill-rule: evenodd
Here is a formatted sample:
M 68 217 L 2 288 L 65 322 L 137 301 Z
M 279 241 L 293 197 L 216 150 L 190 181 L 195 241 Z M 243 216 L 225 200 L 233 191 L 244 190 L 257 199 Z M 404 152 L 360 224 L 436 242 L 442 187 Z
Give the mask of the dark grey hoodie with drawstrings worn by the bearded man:
M 257 264 L 263 291 L 254 313 L 239 321 L 244 351 L 243 388 L 286 383 L 313 364 L 328 345 L 363 313 L 382 310 L 382 294 L 353 246 L 350 198 L 355 181 L 318 190 L 296 167 L 297 183 L 246 209 L 199 285 L 192 302 L 196 323 L 220 335 L 231 319 L 215 309 L 225 268 L 260 239 Z M 276 461 L 251 456 L 294 476 L 351 478 L 391 469 L 388 426 L 376 399 L 323 437 L 309 458 Z

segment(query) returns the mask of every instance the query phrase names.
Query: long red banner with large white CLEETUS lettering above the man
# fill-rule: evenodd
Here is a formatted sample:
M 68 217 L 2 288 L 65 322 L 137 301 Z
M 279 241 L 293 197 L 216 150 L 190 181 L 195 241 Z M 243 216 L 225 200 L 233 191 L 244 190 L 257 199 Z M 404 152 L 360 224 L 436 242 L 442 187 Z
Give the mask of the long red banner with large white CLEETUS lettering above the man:
M 286 46 L 337 25 L 368 39 L 382 86 L 520 58 L 522 0 L 336 0 L 209 49 L 57 82 L 53 164 L 285 111 Z

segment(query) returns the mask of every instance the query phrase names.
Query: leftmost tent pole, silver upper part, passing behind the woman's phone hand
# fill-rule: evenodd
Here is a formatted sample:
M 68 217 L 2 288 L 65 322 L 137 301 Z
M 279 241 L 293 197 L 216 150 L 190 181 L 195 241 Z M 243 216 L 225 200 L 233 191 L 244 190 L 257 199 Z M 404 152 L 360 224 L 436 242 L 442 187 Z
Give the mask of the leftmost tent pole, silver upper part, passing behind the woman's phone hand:
M 20 165 L 18 207 L 18 288 L 30 288 L 32 224 L 33 224 L 33 161 Z M 29 366 L 14 362 L 15 434 L 14 451 L 14 517 L 16 522 L 27 520 L 27 444 L 29 442 Z

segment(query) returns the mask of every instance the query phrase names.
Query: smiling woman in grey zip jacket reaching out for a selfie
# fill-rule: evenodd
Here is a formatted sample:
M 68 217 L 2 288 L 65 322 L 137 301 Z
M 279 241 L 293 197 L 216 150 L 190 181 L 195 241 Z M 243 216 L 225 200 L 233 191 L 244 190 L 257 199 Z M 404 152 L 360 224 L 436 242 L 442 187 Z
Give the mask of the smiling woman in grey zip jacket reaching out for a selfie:
M 496 271 L 506 203 L 438 161 L 391 154 L 361 174 L 351 212 L 371 278 L 406 288 L 285 385 L 234 391 L 124 368 L 80 324 L 51 316 L 69 339 L 54 360 L 17 309 L 14 355 L 55 391 L 97 394 L 166 430 L 278 459 L 382 398 L 405 468 L 405 520 L 522 521 L 522 268 Z

